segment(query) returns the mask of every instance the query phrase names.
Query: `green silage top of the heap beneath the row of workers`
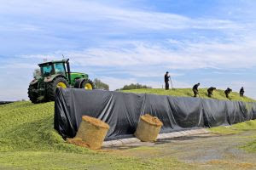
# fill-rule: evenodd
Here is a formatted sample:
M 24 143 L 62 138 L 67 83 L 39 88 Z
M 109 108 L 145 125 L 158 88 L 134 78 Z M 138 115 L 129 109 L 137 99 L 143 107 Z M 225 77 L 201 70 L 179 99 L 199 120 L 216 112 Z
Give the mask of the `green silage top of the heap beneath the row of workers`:
M 123 90 L 125 93 L 136 93 L 136 94 L 159 94 L 159 95 L 172 95 L 172 96 L 183 96 L 183 97 L 192 97 L 194 96 L 191 88 L 175 88 L 170 90 L 165 90 L 162 88 L 142 88 L 142 89 L 132 89 L 132 90 Z M 200 88 L 199 94 L 201 98 L 209 99 L 207 96 L 207 88 Z M 238 93 L 232 92 L 230 94 L 232 100 L 244 101 L 244 102 L 255 102 L 255 99 L 250 99 L 248 97 L 241 98 Z M 224 90 L 216 90 L 213 92 L 212 99 L 223 99 L 228 100 L 225 97 Z

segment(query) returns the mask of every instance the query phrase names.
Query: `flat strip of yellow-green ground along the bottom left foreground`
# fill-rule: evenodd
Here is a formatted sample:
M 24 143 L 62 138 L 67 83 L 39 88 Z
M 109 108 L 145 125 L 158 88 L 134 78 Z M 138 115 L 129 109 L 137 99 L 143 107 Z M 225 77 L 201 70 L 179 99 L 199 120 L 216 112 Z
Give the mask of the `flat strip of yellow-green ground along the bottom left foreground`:
M 24 169 L 191 169 L 191 165 L 172 158 L 136 159 L 110 154 L 53 153 L 53 152 L 12 152 L 0 153 L 3 169 L 21 167 Z M 194 166 L 195 167 L 195 166 Z M 1 167 L 0 167 L 1 169 Z

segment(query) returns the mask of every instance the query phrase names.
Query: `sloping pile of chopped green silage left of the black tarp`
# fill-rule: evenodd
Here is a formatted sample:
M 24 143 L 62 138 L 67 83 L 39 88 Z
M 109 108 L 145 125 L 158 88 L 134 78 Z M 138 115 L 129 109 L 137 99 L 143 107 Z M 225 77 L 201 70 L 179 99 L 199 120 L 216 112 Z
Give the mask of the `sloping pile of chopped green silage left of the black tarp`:
M 0 105 L 0 151 L 84 149 L 66 144 L 53 128 L 54 103 Z

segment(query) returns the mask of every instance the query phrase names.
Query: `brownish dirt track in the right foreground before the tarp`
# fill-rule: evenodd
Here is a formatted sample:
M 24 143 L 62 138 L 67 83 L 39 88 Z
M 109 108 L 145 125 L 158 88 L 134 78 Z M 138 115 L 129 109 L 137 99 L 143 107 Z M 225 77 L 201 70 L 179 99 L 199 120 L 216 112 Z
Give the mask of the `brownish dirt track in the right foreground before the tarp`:
M 191 165 L 191 169 L 256 169 L 256 153 L 248 153 L 239 148 L 252 141 L 252 136 L 255 135 L 255 130 L 232 135 L 210 133 L 164 139 L 156 143 L 126 144 L 106 150 L 111 149 L 113 154 L 145 160 L 177 160 Z

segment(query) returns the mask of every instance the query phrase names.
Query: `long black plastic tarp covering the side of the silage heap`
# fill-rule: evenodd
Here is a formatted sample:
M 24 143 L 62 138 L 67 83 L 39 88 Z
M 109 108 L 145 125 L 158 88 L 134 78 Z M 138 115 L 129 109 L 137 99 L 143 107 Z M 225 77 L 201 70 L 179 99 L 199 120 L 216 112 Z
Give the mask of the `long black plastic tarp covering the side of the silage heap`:
M 131 137 L 139 117 L 146 113 L 163 122 L 160 133 L 170 133 L 255 119 L 256 103 L 78 88 L 56 91 L 54 123 L 64 139 L 76 135 L 82 116 L 107 122 L 110 129 L 106 140 Z

